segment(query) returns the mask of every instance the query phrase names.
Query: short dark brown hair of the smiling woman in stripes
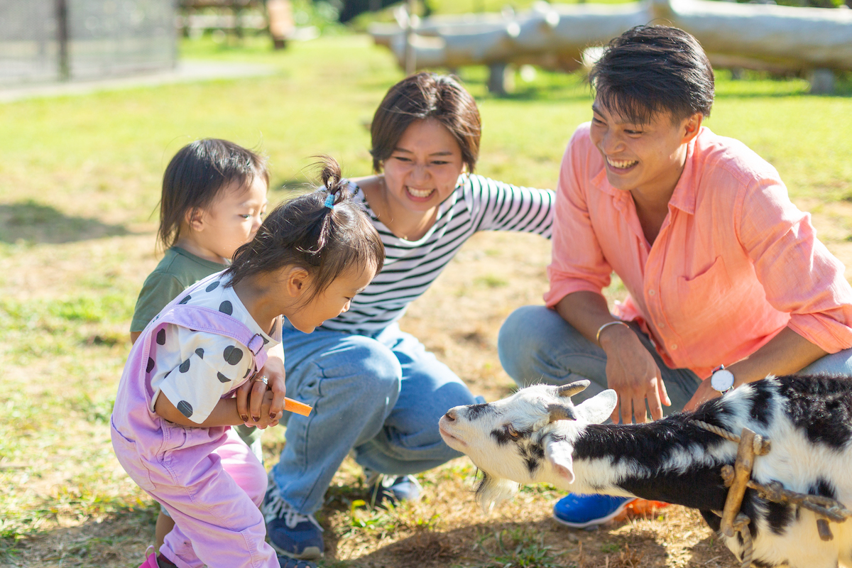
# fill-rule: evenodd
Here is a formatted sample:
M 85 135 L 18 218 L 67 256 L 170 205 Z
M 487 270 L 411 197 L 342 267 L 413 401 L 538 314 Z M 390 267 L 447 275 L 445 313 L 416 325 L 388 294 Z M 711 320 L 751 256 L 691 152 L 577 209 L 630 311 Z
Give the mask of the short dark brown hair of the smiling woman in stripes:
M 404 78 L 384 95 L 370 127 L 373 171 L 382 170 L 406 129 L 415 120 L 433 118 L 450 131 L 473 172 L 479 158 L 482 124 L 476 101 L 449 75 L 420 72 Z

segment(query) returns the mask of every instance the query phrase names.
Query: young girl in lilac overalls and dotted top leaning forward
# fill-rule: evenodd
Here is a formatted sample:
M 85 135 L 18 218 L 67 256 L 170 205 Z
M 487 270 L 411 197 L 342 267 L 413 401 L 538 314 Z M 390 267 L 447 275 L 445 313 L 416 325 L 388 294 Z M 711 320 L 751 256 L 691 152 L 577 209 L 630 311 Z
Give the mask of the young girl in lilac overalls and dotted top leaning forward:
M 178 295 L 130 351 L 112 445 L 176 522 L 141 568 L 279 568 L 258 509 L 266 472 L 229 428 L 243 423 L 231 394 L 279 342 L 281 315 L 310 333 L 347 311 L 384 261 L 333 160 L 322 177 L 327 191 L 275 208 L 231 267 Z M 269 416 L 271 403 L 267 392 L 262 426 L 281 417 Z

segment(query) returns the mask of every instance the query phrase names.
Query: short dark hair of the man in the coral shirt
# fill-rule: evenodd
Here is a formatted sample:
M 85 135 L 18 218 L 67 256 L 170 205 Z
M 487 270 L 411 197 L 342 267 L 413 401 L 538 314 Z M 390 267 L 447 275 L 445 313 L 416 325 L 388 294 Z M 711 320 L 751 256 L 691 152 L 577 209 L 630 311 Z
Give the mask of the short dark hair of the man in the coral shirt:
M 589 74 L 596 99 L 632 123 L 659 113 L 680 121 L 713 106 L 713 68 L 701 45 L 683 30 L 636 26 L 615 37 Z

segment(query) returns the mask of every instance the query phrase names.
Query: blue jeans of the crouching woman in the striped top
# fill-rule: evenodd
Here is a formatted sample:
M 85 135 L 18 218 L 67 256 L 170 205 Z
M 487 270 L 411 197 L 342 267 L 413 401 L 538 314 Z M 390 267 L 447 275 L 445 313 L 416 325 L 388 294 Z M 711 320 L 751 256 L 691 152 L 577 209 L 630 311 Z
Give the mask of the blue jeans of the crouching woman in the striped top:
M 299 513 L 323 504 L 350 450 L 355 461 L 391 475 L 435 468 L 461 454 L 438 420 L 477 399 L 417 338 L 391 324 L 373 336 L 282 330 L 287 396 L 314 407 L 287 416 L 286 445 L 272 475 Z M 288 414 L 285 412 L 285 415 Z

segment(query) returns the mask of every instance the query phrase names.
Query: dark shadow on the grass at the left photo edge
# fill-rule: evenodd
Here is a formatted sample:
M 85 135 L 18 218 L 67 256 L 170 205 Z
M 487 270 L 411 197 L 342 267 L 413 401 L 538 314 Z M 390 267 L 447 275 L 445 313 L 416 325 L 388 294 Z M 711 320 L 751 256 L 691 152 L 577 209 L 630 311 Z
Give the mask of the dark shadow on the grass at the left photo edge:
M 0 242 L 61 244 L 93 238 L 130 234 L 120 225 L 107 225 L 97 219 L 65 215 L 49 206 L 27 200 L 0 204 Z

